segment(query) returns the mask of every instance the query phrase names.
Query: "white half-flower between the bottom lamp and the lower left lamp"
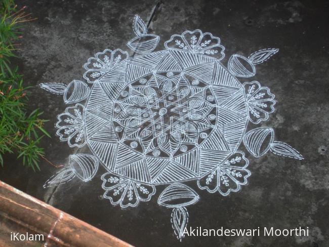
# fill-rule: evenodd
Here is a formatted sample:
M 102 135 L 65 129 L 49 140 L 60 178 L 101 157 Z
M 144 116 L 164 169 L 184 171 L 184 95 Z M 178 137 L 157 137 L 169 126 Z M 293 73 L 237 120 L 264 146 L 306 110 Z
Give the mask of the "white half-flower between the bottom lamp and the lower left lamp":
M 104 198 L 109 199 L 113 205 L 120 204 L 121 208 L 136 207 L 140 201 L 149 201 L 155 194 L 153 185 L 124 179 L 112 173 L 103 174 L 102 180 Z

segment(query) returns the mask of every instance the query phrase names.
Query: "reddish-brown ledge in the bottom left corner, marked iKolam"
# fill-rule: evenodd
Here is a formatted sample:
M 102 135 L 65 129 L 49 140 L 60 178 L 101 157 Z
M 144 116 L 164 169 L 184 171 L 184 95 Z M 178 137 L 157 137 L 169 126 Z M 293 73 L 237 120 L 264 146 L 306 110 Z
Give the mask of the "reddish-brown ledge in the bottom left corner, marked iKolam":
M 1 181 L 0 219 L 0 246 L 36 246 L 11 241 L 13 231 L 43 234 L 37 246 L 132 246 Z

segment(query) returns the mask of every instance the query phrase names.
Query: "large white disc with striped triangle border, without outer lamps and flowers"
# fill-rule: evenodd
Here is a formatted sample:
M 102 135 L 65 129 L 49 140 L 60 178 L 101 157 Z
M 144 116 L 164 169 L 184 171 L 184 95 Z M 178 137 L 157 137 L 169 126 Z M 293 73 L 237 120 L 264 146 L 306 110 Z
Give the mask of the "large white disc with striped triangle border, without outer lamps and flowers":
M 111 68 L 93 84 L 84 114 L 87 143 L 104 167 L 154 185 L 208 174 L 236 151 L 247 120 L 239 81 L 217 59 L 178 50 Z

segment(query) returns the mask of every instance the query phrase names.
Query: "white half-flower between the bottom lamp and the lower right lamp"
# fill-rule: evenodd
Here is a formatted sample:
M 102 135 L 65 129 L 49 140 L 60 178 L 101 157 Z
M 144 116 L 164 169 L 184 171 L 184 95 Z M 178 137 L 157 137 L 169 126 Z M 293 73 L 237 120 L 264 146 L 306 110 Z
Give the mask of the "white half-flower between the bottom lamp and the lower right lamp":
M 247 184 L 251 172 L 247 170 L 249 161 L 243 152 L 230 155 L 227 160 L 200 178 L 197 185 L 200 189 L 207 189 L 210 193 L 218 191 L 226 196 L 230 192 L 237 192 L 241 185 Z

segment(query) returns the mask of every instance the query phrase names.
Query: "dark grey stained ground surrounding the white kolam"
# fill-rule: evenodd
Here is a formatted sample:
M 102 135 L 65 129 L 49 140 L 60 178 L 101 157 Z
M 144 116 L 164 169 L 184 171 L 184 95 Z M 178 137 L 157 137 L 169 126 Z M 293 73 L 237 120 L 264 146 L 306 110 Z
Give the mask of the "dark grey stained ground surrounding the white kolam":
M 185 238 L 172 233 L 170 211 L 156 197 L 134 209 L 121 210 L 102 199 L 99 171 L 92 182 L 75 180 L 43 189 L 57 170 L 41 162 L 41 172 L 22 168 L 12 156 L 0 179 L 55 207 L 137 246 L 329 246 L 329 97 L 328 1 L 32 1 L 17 0 L 38 20 L 24 29 L 16 63 L 26 84 L 69 83 L 82 79 L 82 65 L 105 48 L 128 50 L 132 20 L 149 20 L 160 46 L 172 34 L 199 28 L 221 38 L 228 58 L 275 47 L 280 52 L 257 67 L 253 78 L 276 96 L 276 111 L 263 126 L 275 129 L 277 140 L 290 143 L 305 160 L 267 154 L 250 159 L 252 177 L 240 193 L 228 197 L 199 191 L 201 200 L 189 207 L 189 226 L 203 228 L 310 228 L 309 237 Z M 243 81 L 242 81 L 243 82 Z M 35 87 L 31 108 L 45 111 L 47 158 L 66 163 L 76 152 L 55 136 L 62 98 Z M 194 183 L 190 183 L 191 185 Z

